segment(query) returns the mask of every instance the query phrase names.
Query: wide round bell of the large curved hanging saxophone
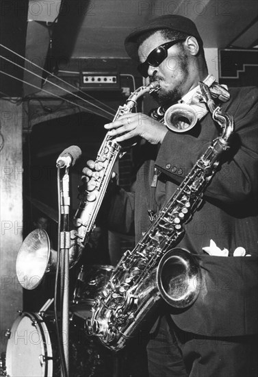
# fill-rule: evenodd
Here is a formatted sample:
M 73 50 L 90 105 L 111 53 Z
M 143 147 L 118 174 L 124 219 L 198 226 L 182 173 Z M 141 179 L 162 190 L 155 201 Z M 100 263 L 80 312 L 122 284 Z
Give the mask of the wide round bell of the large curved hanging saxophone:
M 188 250 L 169 250 L 157 267 L 157 287 L 162 298 L 174 308 L 192 305 L 202 287 L 201 267 Z

